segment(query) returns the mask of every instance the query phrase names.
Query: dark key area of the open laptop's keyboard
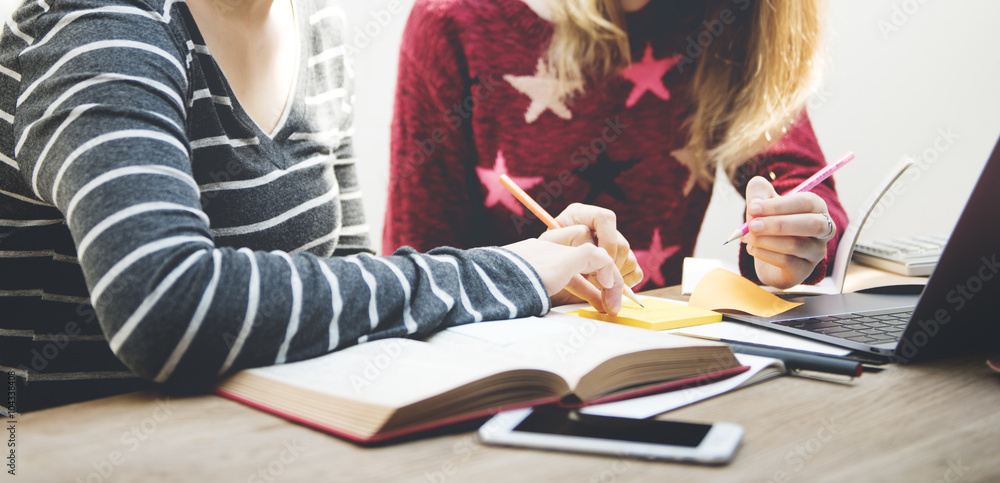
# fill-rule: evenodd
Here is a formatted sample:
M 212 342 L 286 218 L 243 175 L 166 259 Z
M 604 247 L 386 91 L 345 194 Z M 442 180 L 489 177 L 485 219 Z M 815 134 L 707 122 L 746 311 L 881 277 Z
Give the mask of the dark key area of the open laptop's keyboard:
M 775 324 L 863 344 L 882 344 L 899 340 L 912 315 L 913 309 L 895 309 L 786 320 Z

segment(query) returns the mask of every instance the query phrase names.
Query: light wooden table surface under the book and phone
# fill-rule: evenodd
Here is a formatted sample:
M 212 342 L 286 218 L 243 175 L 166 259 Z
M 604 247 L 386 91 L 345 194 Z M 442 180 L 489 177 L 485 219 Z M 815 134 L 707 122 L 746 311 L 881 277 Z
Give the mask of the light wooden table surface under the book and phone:
M 490 447 L 471 429 L 367 448 L 215 395 L 139 392 L 22 415 L 18 474 L 5 476 L 74 483 L 1000 481 L 1000 374 L 986 357 L 889 365 L 851 383 L 781 377 L 660 416 L 742 424 L 742 448 L 719 467 Z

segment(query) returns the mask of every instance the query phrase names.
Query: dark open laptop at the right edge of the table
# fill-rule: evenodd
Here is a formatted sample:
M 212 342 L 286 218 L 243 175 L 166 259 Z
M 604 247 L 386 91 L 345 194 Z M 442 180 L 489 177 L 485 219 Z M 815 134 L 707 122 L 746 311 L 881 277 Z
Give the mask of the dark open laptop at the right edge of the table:
M 1000 350 L 998 211 L 1000 139 L 920 295 L 798 297 L 790 300 L 802 305 L 775 317 L 727 317 L 891 362 Z

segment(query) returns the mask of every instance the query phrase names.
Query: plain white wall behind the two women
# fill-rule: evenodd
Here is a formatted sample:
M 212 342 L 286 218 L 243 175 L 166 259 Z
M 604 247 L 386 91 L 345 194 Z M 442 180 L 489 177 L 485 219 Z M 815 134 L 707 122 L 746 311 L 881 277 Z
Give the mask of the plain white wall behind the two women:
M 342 2 L 352 21 L 348 41 L 358 52 L 356 147 L 377 245 L 397 49 L 412 2 Z M 0 2 L 3 17 L 16 3 Z M 910 155 L 921 161 L 921 176 L 905 181 L 862 238 L 950 232 L 1000 135 L 1000 2 L 829 0 L 826 8 L 828 66 L 810 114 L 829 160 L 848 150 L 857 155 L 834 176 L 848 214 Z M 742 203 L 727 184 L 716 185 L 698 256 L 734 256 L 735 246 L 720 243 L 741 223 Z

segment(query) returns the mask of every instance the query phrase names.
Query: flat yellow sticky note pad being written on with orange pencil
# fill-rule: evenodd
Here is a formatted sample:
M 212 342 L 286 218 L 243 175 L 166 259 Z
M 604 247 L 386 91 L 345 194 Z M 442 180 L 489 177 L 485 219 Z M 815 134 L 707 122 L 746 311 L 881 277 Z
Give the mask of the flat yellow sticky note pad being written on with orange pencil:
M 618 312 L 618 315 L 602 314 L 593 307 L 580 309 L 576 314 L 588 319 L 652 330 L 678 329 L 692 325 L 711 324 L 722 320 L 722 314 L 718 312 L 675 304 L 666 300 L 644 298 L 642 303 L 646 308 L 639 307 L 630 300 L 622 300 L 622 310 Z

